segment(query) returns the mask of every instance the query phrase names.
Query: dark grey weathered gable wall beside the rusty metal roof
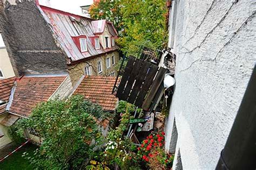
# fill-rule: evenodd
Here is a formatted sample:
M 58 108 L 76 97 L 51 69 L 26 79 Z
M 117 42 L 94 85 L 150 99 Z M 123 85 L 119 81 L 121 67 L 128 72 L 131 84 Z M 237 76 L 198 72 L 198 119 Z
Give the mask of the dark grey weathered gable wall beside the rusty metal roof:
M 17 1 L 15 5 L 6 1 L 0 19 L 9 56 L 15 60 L 19 75 L 66 71 L 65 54 L 33 1 Z

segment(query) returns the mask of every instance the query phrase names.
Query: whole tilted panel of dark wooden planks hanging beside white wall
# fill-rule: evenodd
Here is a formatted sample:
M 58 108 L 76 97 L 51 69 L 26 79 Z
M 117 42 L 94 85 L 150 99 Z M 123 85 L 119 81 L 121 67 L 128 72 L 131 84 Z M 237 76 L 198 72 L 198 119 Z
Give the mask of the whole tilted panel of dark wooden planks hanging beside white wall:
M 116 96 L 148 111 L 167 69 L 129 57 Z

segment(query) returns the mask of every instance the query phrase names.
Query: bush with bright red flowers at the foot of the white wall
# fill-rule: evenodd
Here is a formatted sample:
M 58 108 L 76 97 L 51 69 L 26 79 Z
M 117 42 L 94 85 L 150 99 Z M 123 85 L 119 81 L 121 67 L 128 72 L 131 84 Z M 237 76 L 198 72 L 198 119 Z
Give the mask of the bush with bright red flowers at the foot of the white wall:
M 151 133 L 138 147 L 139 157 L 152 169 L 172 166 L 173 155 L 164 151 L 164 135 L 164 132 Z

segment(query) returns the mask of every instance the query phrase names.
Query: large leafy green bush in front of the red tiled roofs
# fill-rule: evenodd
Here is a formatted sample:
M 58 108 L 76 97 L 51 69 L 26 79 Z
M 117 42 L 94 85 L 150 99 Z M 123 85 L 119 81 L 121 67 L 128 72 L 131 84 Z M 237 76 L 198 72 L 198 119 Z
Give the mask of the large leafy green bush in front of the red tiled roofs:
M 21 119 L 16 125 L 19 134 L 31 128 L 43 141 L 35 157 L 29 158 L 31 164 L 38 169 L 85 167 L 102 136 L 96 112 L 103 113 L 100 106 L 85 101 L 83 96 L 50 100 L 36 106 L 29 119 Z

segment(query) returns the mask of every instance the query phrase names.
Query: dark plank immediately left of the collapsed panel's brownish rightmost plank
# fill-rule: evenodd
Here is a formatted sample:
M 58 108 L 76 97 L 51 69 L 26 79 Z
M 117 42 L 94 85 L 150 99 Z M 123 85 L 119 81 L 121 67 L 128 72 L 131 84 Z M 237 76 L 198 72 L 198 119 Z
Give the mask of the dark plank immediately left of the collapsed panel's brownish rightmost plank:
M 158 70 L 158 66 L 151 65 L 149 72 L 147 73 L 146 80 L 144 81 L 144 84 L 142 85 L 142 89 L 140 90 L 138 97 L 135 101 L 136 106 L 141 107 L 144 101 L 144 98 L 149 91 L 149 88 L 153 82 L 154 76 L 156 76 Z

